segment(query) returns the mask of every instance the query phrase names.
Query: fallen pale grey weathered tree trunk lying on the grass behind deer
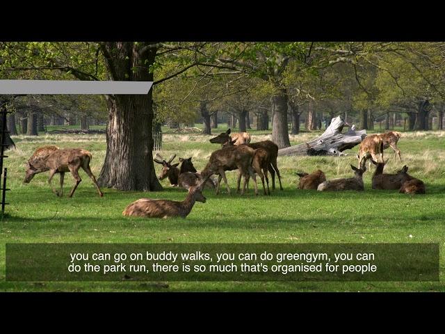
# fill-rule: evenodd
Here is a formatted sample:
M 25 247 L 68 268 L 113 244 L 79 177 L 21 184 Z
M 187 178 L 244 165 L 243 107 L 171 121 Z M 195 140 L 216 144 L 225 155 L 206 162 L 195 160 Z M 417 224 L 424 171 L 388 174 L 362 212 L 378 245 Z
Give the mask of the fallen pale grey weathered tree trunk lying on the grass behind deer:
M 344 134 L 343 127 L 347 125 L 340 116 L 332 118 L 331 124 L 321 136 L 307 143 L 293 145 L 278 150 L 278 155 L 346 155 L 344 150 L 353 148 L 366 137 L 366 130 L 355 131 L 355 125 Z

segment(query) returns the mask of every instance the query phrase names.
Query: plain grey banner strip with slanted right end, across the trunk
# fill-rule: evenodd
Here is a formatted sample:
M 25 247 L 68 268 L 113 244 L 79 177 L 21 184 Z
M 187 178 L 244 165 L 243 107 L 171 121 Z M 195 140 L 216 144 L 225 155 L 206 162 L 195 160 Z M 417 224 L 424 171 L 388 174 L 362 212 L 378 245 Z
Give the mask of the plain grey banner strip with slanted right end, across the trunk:
M 0 94 L 144 95 L 153 81 L 0 80 Z

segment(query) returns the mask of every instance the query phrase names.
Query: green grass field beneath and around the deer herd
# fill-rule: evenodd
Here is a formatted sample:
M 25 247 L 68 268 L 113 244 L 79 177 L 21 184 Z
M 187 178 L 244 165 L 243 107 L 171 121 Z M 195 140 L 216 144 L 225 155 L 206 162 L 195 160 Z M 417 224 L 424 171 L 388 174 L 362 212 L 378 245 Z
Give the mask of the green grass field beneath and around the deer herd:
M 216 129 L 218 134 L 223 128 Z M 264 132 L 252 132 L 252 141 L 270 138 Z M 303 143 L 318 133 L 291 136 L 292 144 Z M 208 161 L 218 145 L 210 136 L 165 134 L 161 154 L 193 157 L 197 170 Z M 204 191 L 207 203 L 197 202 L 186 219 L 147 220 L 124 218 L 122 209 L 142 197 L 184 199 L 185 192 L 172 189 L 155 193 L 120 192 L 103 189 L 99 198 L 83 171 L 83 182 L 73 198 L 57 198 L 47 184 L 47 173 L 22 184 L 24 163 L 33 150 L 42 145 L 64 148 L 81 147 L 93 154 L 92 170 L 99 175 L 104 161 L 104 135 L 56 135 L 13 137 L 17 150 L 8 152 L 8 216 L 0 223 L 0 291 L 445 291 L 444 253 L 441 252 L 439 283 L 243 283 L 243 282 L 169 282 L 159 285 L 142 282 L 115 283 L 10 283 L 5 281 L 5 244 L 20 242 L 85 243 L 445 243 L 445 132 L 404 133 L 398 147 L 409 173 L 426 182 L 425 196 L 405 196 L 396 191 L 373 191 L 371 173 L 364 175 L 365 191 L 320 193 L 296 189 L 296 172 L 320 168 L 328 179 L 353 175 L 349 164 L 357 164 L 357 147 L 347 157 L 279 157 L 284 191 L 272 196 L 245 196 L 225 191 L 216 196 Z M 394 164 L 393 152 L 388 173 L 403 164 Z M 159 165 L 156 165 L 156 173 Z M 234 189 L 236 172 L 228 173 Z M 58 177 L 55 178 L 55 184 Z M 65 177 L 65 196 L 73 185 Z M 251 185 L 252 188 L 252 185 Z M 225 189 L 223 189 L 225 190 Z M 411 236 L 411 237 L 410 237 Z

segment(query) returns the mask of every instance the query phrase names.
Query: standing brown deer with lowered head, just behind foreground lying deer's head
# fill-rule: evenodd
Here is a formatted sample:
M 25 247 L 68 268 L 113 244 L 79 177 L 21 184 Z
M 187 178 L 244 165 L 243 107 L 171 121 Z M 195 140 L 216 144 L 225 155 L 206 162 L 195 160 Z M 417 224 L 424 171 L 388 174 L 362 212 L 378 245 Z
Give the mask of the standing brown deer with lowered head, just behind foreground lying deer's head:
M 209 162 L 204 167 L 204 170 L 202 170 L 201 175 L 203 177 L 207 177 L 209 175 L 218 174 L 219 176 L 216 185 L 216 194 L 218 194 L 220 191 L 220 183 L 221 179 L 223 179 L 225 185 L 227 186 L 227 193 L 229 193 L 230 195 L 230 188 L 229 184 L 227 183 L 225 171 L 238 169 L 241 171 L 241 174 L 244 177 L 244 184 L 241 195 L 244 194 L 248 175 L 250 175 L 250 177 L 252 177 L 253 179 L 255 186 L 255 195 L 257 195 L 257 178 L 255 177 L 254 170 L 252 168 L 254 152 L 255 150 L 249 148 L 248 145 L 226 145 L 225 147 L 221 148 L 220 150 L 216 150 L 211 154 Z M 238 178 L 237 190 L 239 190 L 240 187 L 239 182 L 241 182 L 240 178 Z

